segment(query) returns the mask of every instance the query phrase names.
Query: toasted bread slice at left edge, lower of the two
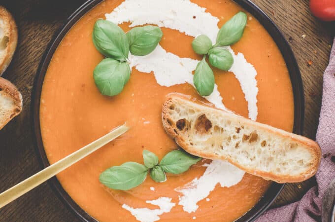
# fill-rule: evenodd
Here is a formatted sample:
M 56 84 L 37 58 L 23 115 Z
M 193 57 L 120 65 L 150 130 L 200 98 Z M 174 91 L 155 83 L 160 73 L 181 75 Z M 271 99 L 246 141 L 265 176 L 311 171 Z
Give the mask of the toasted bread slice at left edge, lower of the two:
M 21 93 L 10 81 L 0 77 L 0 130 L 21 111 Z

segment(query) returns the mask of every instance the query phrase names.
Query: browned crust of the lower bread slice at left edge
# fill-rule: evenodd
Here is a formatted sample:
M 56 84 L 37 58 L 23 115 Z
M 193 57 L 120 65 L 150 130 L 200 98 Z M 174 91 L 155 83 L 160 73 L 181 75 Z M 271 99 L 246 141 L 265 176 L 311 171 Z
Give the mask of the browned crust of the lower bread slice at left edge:
M 15 109 L 8 111 L 10 112 L 10 117 L 7 119 L 0 120 L 0 130 L 1 130 L 12 118 L 17 116 L 22 111 L 23 103 L 22 103 L 22 95 L 16 88 L 16 86 L 7 79 L 4 79 L 2 77 L 0 77 L 0 91 L 1 91 L 0 97 L 6 96 L 10 98 L 12 101 L 14 101 L 15 104 Z

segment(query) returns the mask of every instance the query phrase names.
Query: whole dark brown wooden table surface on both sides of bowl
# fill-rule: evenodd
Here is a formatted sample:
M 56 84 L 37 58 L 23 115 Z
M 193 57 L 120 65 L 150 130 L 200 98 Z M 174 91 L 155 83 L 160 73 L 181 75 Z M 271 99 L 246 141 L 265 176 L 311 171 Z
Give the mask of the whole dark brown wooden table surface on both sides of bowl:
M 322 97 L 322 75 L 328 64 L 335 24 L 315 19 L 307 0 L 253 0 L 289 40 L 302 73 L 305 95 L 304 136 L 315 139 Z M 0 191 L 41 169 L 31 128 L 30 101 L 38 64 L 48 42 L 84 0 L 0 1 L 16 19 L 19 42 L 14 59 L 3 74 L 21 91 L 22 113 L 0 131 Z M 333 29 L 332 29 L 333 26 Z M 333 32 L 333 33 L 332 33 Z M 302 37 L 305 36 L 305 37 Z M 307 65 L 307 61 L 312 64 Z M 311 186 L 286 185 L 272 207 L 299 200 Z M 47 183 L 0 209 L 0 221 L 78 221 Z

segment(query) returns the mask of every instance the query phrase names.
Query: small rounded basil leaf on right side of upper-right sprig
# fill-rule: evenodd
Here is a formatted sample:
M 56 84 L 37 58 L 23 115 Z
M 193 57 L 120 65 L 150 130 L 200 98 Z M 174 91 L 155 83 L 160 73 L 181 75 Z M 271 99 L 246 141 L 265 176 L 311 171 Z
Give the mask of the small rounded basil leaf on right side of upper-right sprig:
M 220 70 L 228 71 L 234 63 L 232 53 L 227 49 L 212 48 L 208 55 L 209 63 Z

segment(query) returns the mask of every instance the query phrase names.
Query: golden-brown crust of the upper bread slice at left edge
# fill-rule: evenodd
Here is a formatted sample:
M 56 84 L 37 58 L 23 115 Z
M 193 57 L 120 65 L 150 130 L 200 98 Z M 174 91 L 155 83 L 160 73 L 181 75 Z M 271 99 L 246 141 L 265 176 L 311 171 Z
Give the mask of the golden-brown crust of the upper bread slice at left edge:
M 3 49 L 5 50 L 4 56 L 3 58 L 0 58 L 0 76 L 1 76 L 1 74 L 7 69 L 10 61 L 13 58 L 17 45 L 18 32 L 15 20 L 13 19 L 9 11 L 3 6 L 0 6 L 0 19 L 3 20 L 4 36 L 8 37 L 7 45 Z

